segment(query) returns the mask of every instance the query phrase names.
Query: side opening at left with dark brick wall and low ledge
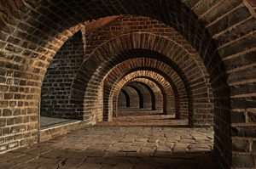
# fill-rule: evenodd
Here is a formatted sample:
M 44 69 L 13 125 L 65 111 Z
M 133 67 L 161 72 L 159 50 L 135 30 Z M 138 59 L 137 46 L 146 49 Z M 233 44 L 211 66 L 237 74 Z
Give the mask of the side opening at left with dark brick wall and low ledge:
M 74 76 L 83 59 L 83 34 L 78 31 L 55 54 L 44 76 L 39 106 L 40 141 L 57 135 L 56 127 L 72 125 L 81 120 L 73 107 L 68 106 L 68 99 Z

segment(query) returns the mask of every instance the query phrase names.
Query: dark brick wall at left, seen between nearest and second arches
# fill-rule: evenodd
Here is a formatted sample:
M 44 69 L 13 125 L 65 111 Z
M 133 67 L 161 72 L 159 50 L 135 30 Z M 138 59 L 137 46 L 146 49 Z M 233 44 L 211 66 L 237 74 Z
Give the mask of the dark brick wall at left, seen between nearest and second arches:
M 41 93 L 41 115 L 82 119 L 78 107 L 71 104 L 72 84 L 84 60 L 81 31 L 73 35 L 51 60 L 44 76 Z

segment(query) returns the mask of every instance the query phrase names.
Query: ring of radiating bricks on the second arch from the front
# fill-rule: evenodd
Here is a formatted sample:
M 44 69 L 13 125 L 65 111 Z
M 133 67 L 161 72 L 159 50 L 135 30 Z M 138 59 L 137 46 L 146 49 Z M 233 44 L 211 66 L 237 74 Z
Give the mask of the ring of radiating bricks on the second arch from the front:
M 134 41 L 132 41 L 132 38 L 134 39 Z M 98 83 L 98 86 L 100 86 L 100 82 L 96 82 L 96 81 L 94 81 L 94 79 L 101 79 L 102 77 L 92 77 L 91 79 L 92 80 L 90 80 L 88 77 L 90 76 L 90 73 L 89 72 L 94 72 L 93 70 L 96 70 L 96 67 L 97 67 L 97 65 L 96 65 L 96 63 L 98 63 L 98 61 L 96 61 L 96 60 L 104 60 L 104 59 L 106 59 L 106 52 L 108 51 L 108 53 L 107 53 L 107 55 L 109 55 L 109 56 L 111 56 L 111 55 L 113 55 L 113 58 L 117 58 L 115 55 L 116 54 L 119 54 L 119 53 L 122 53 L 122 52 L 120 52 L 120 51 L 122 51 L 122 48 L 126 48 L 126 45 L 124 44 L 124 45 L 120 45 L 120 43 L 119 42 L 126 42 L 126 40 L 127 40 L 127 42 L 136 42 L 136 39 L 140 39 L 140 41 L 142 41 L 142 42 L 144 42 L 144 47 L 142 46 L 141 47 L 141 44 L 140 43 L 135 43 L 135 44 L 131 44 L 130 46 L 127 46 L 127 48 L 150 48 L 150 44 L 153 44 L 153 43 L 150 43 L 150 39 L 152 39 L 152 41 L 154 41 L 154 39 L 156 39 L 157 38 L 157 41 L 158 42 L 161 42 L 161 41 L 163 41 L 163 42 L 170 42 L 169 44 L 170 44 L 170 47 L 172 47 L 172 48 L 175 48 L 176 50 L 176 52 L 177 52 L 177 48 L 180 48 L 179 46 L 178 46 L 178 44 L 177 43 L 175 43 L 175 42 L 172 42 L 172 41 L 170 41 L 169 39 L 166 39 L 165 37 L 159 37 L 159 36 L 155 36 L 155 35 L 152 35 L 152 34 L 144 34 L 144 33 L 134 33 L 134 34 L 131 34 L 131 35 L 125 35 L 125 36 L 120 36 L 120 37 L 117 37 L 117 38 L 115 38 L 115 39 L 112 39 L 112 40 L 110 40 L 109 42 L 106 42 L 106 43 L 104 43 L 104 44 L 102 44 L 99 48 L 97 48 L 92 54 L 91 54 L 91 56 L 90 56 L 90 59 L 86 59 L 86 61 L 84 62 L 84 64 L 81 66 L 81 72 L 80 72 L 80 74 L 78 75 L 78 78 L 77 78 L 77 80 L 76 80 L 76 82 L 78 82 L 78 83 L 74 83 L 74 88 L 75 88 L 75 91 L 73 91 L 73 93 L 77 96 L 77 94 L 78 93 L 83 93 L 83 91 L 85 90 L 84 88 L 86 88 L 86 86 L 84 85 L 84 84 L 89 84 L 89 86 L 91 86 L 92 88 L 93 87 L 95 87 L 96 86 L 96 83 Z M 126 39 L 126 40 L 125 40 Z M 146 39 L 147 39 L 147 41 L 146 41 Z M 160 45 L 160 43 L 156 43 L 156 44 L 159 44 Z M 134 46 L 135 45 L 135 46 Z M 148 46 L 149 45 L 149 46 Z M 157 46 L 154 46 L 154 49 L 157 51 L 157 50 L 162 50 L 160 47 L 158 48 Z M 181 50 L 183 50 L 183 48 L 180 48 Z M 109 54 L 109 52 L 110 52 L 110 54 Z M 128 52 L 129 52 L 129 50 L 128 50 Z M 132 51 L 131 51 L 132 52 Z M 166 54 L 171 54 L 170 53 L 170 51 L 161 51 L 162 53 L 166 53 Z M 102 53 L 102 54 L 101 54 Z M 112 54 L 111 54 L 112 53 Z M 137 55 L 138 55 L 138 53 L 141 53 L 140 52 L 140 49 L 138 49 L 138 51 L 135 51 L 133 54 L 132 53 L 129 53 L 130 55 L 135 55 L 135 57 L 137 57 Z M 151 52 L 147 52 L 147 50 L 146 50 L 146 52 L 143 52 L 143 55 L 159 55 L 159 54 L 157 54 L 157 53 L 154 53 L 154 54 L 150 54 Z M 125 55 L 125 57 L 128 57 L 128 54 L 125 54 L 124 52 L 122 53 L 123 55 Z M 176 54 L 175 52 L 174 52 L 174 54 Z M 184 51 L 184 53 L 183 52 L 181 52 L 181 53 L 178 53 L 178 54 L 189 54 L 188 52 L 186 52 L 186 51 Z M 171 54 L 172 55 L 172 54 Z M 186 55 L 185 55 L 186 56 Z M 154 56 L 152 56 L 152 57 L 154 57 Z M 163 56 L 163 55 L 161 55 L 161 56 L 158 56 L 159 57 L 159 59 L 164 59 L 165 58 L 165 56 Z M 172 57 L 172 56 L 170 56 L 170 57 Z M 178 57 L 177 57 L 178 58 Z M 183 57 L 180 57 L 180 58 L 178 58 L 179 60 L 180 59 L 183 59 Z M 177 60 L 178 60 L 177 59 Z M 114 59 L 114 60 L 116 60 L 117 61 L 117 59 Z M 189 65 L 183 65 L 183 66 L 185 66 L 187 69 L 187 72 L 188 72 L 188 75 L 189 75 L 189 78 L 190 78 L 190 81 L 194 81 L 194 82 L 200 82 L 200 81 L 202 81 L 202 82 L 204 82 L 205 83 L 205 87 L 206 88 L 208 88 L 209 87 L 209 85 L 207 84 L 207 82 L 206 82 L 206 80 L 205 80 L 205 76 L 204 76 L 204 74 L 202 74 L 202 71 L 201 71 L 201 68 L 200 67 L 197 67 L 197 64 L 196 64 L 196 62 L 193 62 L 193 58 L 188 58 L 188 59 L 185 59 L 188 63 L 189 63 Z M 195 60 L 194 60 L 195 61 Z M 171 62 L 168 62 L 168 63 L 170 63 L 170 65 L 173 65 L 173 66 L 176 66 L 177 67 L 177 65 L 175 65 L 175 63 L 173 64 L 173 62 L 171 61 Z M 195 65 L 191 65 L 191 63 L 195 63 Z M 91 66 L 89 66 L 89 65 L 94 65 L 95 67 L 94 68 L 92 68 Z M 201 75 L 195 75 L 195 74 L 193 74 L 193 73 L 191 73 L 191 72 L 189 72 L 189 70 L 191 69 L 189 69 L 189 67 L 188 66 L 191 66 L 191 68 L 195 68 L 195 67 L 197 67 L 197 69 L 199 69 L 198 71 L 196 71 L 197 73 L 199 73 L 199 74 L 201 74 Z M 103 71 L 105 71 L 105 73 L 107 74 L 107 70 L 104 70 L 104 68 L 101 68 Z M 178 69 L 178 68 L 177 68 Z M 176 69 L 176 70 L 177 70 Z M 185 69 L 185 68 L 184 68 Z M 99 70 L 99 71 L 102 71 L 102 70 Z M 94 74 L 96 75 L 96 76 L 103 76 L 104 75 L 104 73 L 103 72 L 101 72 L 101 73 L 99 73 L 99 71 L 96 71 Z M 183 77 L 185 77 L 185 75 L 183 75 L 183 73 L 182 73 L 182 70 L 177 70 L 177 72 L 179 73 L 179 75 L 180 76 L 183 76 Z M 92 75 L 91 75 L 92 76 Z M 86 78 L 84 78 L 84 77 L 86 77 Z M 195 78 L 201 78 L 201 79 L 196 79 L 195 80 Z M 188 82 L 189 83 L 189 80 L 184 80 L 184 82 Z M 93 83 L 94 85 L 90 85 L 90 83 Z M 189 85 L 186 85 L 186 86 L 188 86 L 189 87 Z M 87 87 L 87 89 L 88 90 L 91 90 L 91 87 Z M 78 91 L 78 89 L 77 88 L 79 88 L 80 89 L 80 91 Z M 208 90 L 208 92 L 210 91 L 210 93 L 211 93 L 211 90 Z M 207 92 L 207 93 L 208 93 Z M 89 94 L 89 96 L 90 96 L 90 92 L 88 93 Z M 86 93 L 84 93 L 84 95 L 87 95 Z M 211 96 L 212 94 L 208 94 L 208 96 Z M 91 97 L 91 96 L 90 96 Z M 81 102 L 83 102 L 83 98 L 84 97 L 80 97 L 80 100 L 81 100 Z M 85 99 L 86 100 L 86 99 Z M 212 101 L 212 99 L 208 99 L 208 101 Z M 88 102 L 88 103 L 90 103 L 89 102 L 89 100 L 88 101 L 86 101 L 86 102 Z M 90 105 L 91 105 L 92 103 L 90 103 Z M 86 111 L 89 111 L 90 113 L 91 113 L 91 110 L 90 110 L 90 108 L 84 108 L 84 110 L 86 110 Z M 95 109 L 94 109 L 95 110 Z M 88 114 L 87 114 L 88 115 Z M 90 118 L 90 117 L 87 117 L 87 118 Z

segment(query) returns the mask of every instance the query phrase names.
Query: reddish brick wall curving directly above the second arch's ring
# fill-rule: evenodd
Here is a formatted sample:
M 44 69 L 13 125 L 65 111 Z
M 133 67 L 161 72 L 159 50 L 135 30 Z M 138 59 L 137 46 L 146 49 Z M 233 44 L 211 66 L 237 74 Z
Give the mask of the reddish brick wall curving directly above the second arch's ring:
M 147 25 L 145 24 L 146 22 L 150 24 Z M 152 27 L 154 27 L 154 29 L 151 29 Z M 154 34 L 177 43 L 179 46 L 183 47 L 184 50 L 187 50 L 191 56 L 193 56 L 192 58 L 201 66 L 201 71 L 205 74 L 205 78 L 208 79 L 207 69 L 203 66 L 202 59 L 199 54 L 196 53 L 195 49 L 189 45 L 189 42 L 179 35 L 172 27 L 165 25 L 159 20 L 143 16 L 122 15 L 108 25 L 102 26 L 98 31 L 87 31 L 85 38 L 88 41 L 88 46 L 86 47 L 85 57 L 90 57 L 90 54 L 93 53 L 96 48 L 99 48 L 102 44 L 111 39 L 136 32 Z

